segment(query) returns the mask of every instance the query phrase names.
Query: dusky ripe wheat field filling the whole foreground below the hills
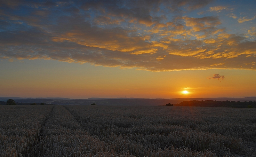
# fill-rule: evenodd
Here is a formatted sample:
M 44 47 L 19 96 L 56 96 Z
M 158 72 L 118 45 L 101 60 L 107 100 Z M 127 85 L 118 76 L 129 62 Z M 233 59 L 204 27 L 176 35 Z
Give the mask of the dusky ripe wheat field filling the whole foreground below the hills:
M 256 109 L 0 106 L 0 156 L 256 156 Z

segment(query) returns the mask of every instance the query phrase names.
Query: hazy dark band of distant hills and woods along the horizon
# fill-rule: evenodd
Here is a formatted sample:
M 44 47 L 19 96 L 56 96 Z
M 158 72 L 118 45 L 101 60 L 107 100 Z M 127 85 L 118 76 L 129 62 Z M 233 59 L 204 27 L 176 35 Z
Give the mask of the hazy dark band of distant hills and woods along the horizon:
M 216 100 L 216 101 L 256 101 L 256 97 L 245 98 L 172 98 L 172 99 L 149 99 L 149 98 L 88 98 L 88 99 L 70 99 L 70 98 L 19 98 L 19 97 L 0 97 L 0 101 L 14 99 L 17 103 L 47 103 L 56 105 L 165 105 L 168 103 L 177 104 L 183 101 L 191 100 Z

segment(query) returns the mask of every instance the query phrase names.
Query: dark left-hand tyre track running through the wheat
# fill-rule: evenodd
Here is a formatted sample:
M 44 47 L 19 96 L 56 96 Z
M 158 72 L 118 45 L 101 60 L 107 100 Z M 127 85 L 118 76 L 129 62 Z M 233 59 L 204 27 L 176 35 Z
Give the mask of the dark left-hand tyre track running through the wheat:
M 46 116 L 44 123 L 41 125 L 40 133 L 39 133 L 39 135 L 37 136 L 37 138 L 36 138 L 36 140 L 35 140 L 33 146 L 30 146 L 29 153 L 28 153 L 28 154 L 24 154 L 24 155 L 22 155 L 22 156 L 39 156 L 40 151 L 39 151 L 39 146 L 38 146 L 38 144 L 40 143 L 40 138 L 44 137 L 43 129 L 44 129 L 44 126 L 45 126 L 45 124 L 47 123 L 49 117 L 52 115 L 52 111 L 53 111 L 53 108 L 54 108 L 54 107 L 55 107 L 55 105 L 52 106 L 52 110 L 51 110 L 50 114 L 49 114 L 48 116 Z

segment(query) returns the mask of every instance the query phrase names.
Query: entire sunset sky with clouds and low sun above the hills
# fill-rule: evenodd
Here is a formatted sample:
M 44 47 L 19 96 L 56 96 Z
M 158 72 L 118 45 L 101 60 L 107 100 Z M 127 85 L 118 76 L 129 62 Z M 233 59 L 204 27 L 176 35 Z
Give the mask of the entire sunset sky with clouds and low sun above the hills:
M 256 0 L 0 0 L 0 97 L 256 96 Z

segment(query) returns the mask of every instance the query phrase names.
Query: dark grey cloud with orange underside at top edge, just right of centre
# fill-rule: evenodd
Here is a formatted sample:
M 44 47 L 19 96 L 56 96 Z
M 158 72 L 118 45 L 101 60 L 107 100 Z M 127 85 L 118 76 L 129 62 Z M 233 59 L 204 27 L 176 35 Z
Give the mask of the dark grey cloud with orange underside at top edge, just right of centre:
M 162 20 L 162 17 L 152 17 L 152 12 L 158 12 L 160 6 L 165 6 L 169 12 L 181 11 L 180 8 L 189 10 L 197 9 L 209 4 L 209 0 L 129 0 L 129 1 L 86 1 L 80 8 L 84 10 L 94 9 L 101 13 L 107 13 L 115 17 L 123 17 L 127 20 L 137 21 L 140 24 L 151 26 L 156 21 Z M 162 8 L 163 9 L 163 8 Z

